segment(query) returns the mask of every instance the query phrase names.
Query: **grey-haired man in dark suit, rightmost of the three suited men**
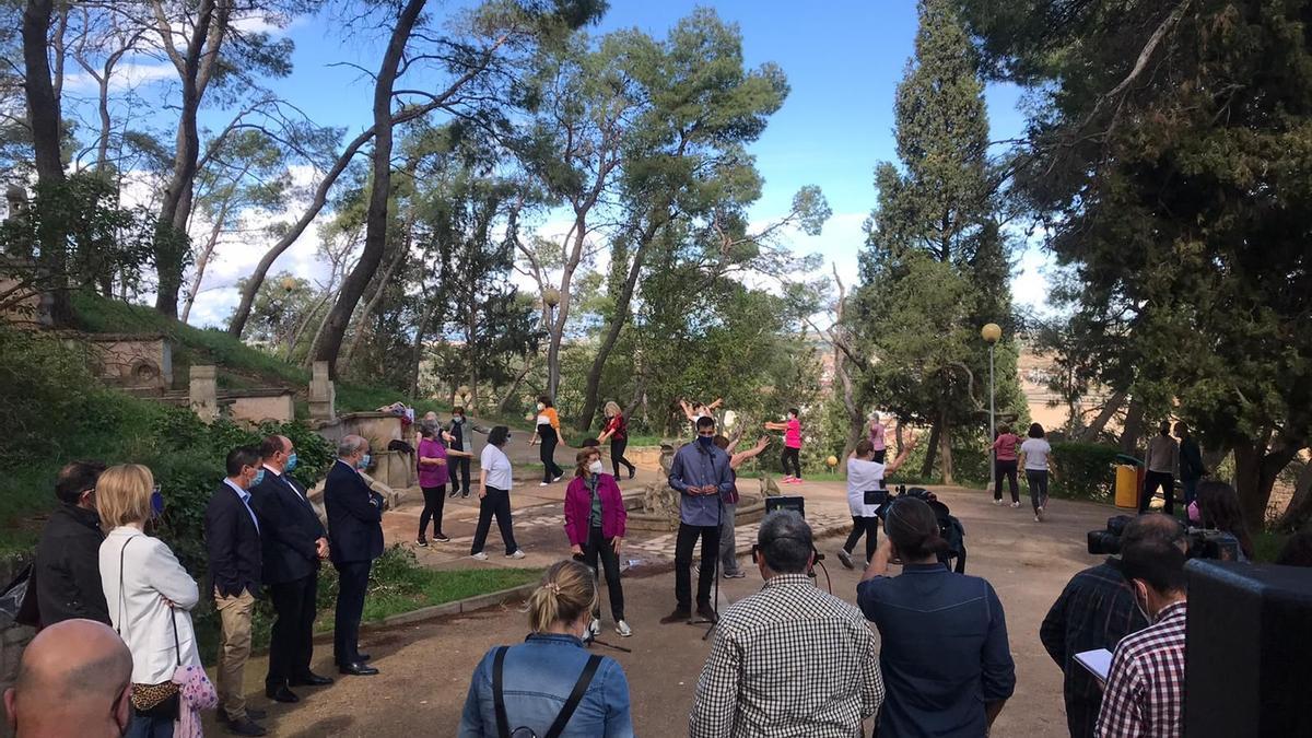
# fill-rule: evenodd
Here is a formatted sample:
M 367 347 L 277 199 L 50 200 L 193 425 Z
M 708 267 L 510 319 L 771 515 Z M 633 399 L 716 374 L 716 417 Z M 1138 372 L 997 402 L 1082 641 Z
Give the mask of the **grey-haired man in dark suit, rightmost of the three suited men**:
M 333 658 L 341 674 L 369 676 L 378 670 L 359 653 L 359 619 L 365 612 L 369 567 L 383 554 L 383 496 L 369 488 L 359 470 L 369 467 L 369 441 L 346 436 L 324 483 L 328 541 L 340 580 L 333 622 Z

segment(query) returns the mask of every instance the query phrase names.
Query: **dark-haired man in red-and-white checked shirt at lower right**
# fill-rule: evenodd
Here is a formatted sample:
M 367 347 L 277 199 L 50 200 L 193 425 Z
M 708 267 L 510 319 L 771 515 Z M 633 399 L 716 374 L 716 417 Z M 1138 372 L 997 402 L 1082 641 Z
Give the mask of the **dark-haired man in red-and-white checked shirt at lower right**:
M 1122 571 L 1152 625 L 1117 645 L 1098 735 L 1178 738 L 1185 730 L 1185 553 L 1160 541 L 1126 546 Z

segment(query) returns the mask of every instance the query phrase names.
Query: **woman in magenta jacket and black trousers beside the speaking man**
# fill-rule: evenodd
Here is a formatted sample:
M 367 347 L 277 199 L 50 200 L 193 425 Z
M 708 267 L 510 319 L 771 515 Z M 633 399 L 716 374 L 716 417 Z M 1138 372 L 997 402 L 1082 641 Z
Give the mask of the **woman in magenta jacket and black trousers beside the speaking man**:
M 615 619 L 615 633 L 627 638 L 634 634 L 625 622 L 625 590 L 619 584 L 619 549 L 625 544 L 625 499 L 619 485 L 610 474 L 602 473 L 601 452 L 585 448 L 576 457 L 575 478 L 565 488 L 565 534 L 575 558 L 597 571 L 597 558 L 606 570 L 606 588 L 610 615 Z M 601 633 L 601 599 L 593 611 L 593 636 Z

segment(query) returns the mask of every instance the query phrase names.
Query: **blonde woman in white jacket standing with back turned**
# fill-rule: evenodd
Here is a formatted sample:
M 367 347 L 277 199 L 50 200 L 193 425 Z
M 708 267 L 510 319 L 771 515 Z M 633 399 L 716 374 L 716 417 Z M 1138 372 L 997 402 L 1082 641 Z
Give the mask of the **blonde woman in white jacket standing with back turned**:
M 199 735 L 197 709 L 213 706 L 192 629 L 195 580 L 168 545 L 146 534 L 163 502 L 151 470 L 106 469 L 96 482 L 96 510 L 109 529 L 100 546 L 100 580 L 114 630 L 133 653 L 130 738 Z M 206 705 L 209 701 L 209 705 Z

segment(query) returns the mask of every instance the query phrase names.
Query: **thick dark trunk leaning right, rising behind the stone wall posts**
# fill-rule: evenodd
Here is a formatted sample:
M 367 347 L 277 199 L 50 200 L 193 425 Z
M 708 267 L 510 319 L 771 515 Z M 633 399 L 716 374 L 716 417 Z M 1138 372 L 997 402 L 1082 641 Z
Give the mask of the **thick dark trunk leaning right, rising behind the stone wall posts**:
M 341 285 L 337 302 L 328 314 L 328 326 L 318 358 L 328 362 L 329 374 L 337 373 L 337 356 L 346 335 L 346 324 L 356 311 L 356 305 L 365 294 L 365 286 L 378 271 L 387 247 L 387 210 L 392 183 L 392 87 L 396 83 L 396 70 L 405 54 L 411 32 L 424 11 L 426 0 L 408 0 L 396 18 L 383 63 L 374 84 L 374 168 L 369 193 L 369 211 L 365 215 L 365 251 L 359 255 L 356 268 Z

